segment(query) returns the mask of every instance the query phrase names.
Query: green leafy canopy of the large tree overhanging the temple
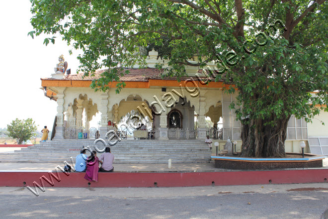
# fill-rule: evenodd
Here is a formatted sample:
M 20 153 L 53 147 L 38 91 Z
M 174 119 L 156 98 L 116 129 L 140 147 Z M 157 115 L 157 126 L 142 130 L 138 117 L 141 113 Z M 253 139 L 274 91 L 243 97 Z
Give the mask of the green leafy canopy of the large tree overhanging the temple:
M 218 54 L 226 69 L 224 74 L 215 74 L 215 79 L 238 88 L 240 104 L 232 108 L 244 124 L 262 119 L 274 126 L 292 114 L 311 121 L 320 109 L 328 111 L 316 107 L 328 103 L 327 0 L 31 2 L 34 30 L 30 36 L 60 33 L 68 44 L 82 49 L 78 59 L 85 75 L 109 69 L 92 82 L 95 90 L 105 91 L 108 83 L 117 81 L 119 93 L 125 86 L 119 75 L 128 74 L 122 66 L 145 66 L 141 48 L 156 47 L 168 60 L 165 74 L 178 78 L 186 74 L 186 66 L 205 68 Z M 285 30 L 275 24 L 278 19 Z M 51 39 L 55 40 L 47 37 L 45 44 Z M 236 54 L 231 60 L 235 64 L 225 58 L 229 52 Z M 156 66 L 164 68 L 161 62 Z M 227 92 L 235 92 L 232 88 Z

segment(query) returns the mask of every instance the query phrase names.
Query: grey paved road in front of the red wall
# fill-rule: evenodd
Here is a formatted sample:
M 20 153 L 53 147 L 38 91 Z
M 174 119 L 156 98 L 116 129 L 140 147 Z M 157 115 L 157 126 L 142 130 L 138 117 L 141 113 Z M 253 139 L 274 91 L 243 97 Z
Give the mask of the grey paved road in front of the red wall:
M 328 183 L 46 188 L 38 197 L 0 187 L 0 199 L 1 219 L 319 219 L 328 208 Z

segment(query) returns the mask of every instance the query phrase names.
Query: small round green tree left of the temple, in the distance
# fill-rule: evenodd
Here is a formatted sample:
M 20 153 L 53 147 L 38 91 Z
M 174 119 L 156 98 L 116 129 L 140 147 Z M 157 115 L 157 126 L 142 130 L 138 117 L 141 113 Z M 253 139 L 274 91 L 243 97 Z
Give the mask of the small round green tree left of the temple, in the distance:
M 16 118 L 7 125 L 8 136 L 18 140 L 18 144 L 29 140 L 33 136 L 33 132 L 37 130 L 35 121 L 32 118 L 20 120 Z

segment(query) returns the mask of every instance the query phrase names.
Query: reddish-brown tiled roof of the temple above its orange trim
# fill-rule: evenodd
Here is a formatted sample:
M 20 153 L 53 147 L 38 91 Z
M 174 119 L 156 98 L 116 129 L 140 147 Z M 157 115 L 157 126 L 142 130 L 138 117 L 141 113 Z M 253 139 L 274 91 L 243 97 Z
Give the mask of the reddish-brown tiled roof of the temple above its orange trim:
M 63 79 L 53 79 L 53 78 L 41 78 L 41 80 L 72 80 L 72 81 L 92 81 L 93 79 L 98 79 L 102 77 L 102 73 L 107 69 L 98 70 L 94 73 L 94 76 L 83 76 L 82 74 L 73 74 L 73 75 L 65 75 Z M 150 79 L 157 80 L 176 80 L 176 77 L 161 77 L 163 71 L 158 70 L 156 68 L 124 68 L 125 70 L 129 70 L 129 74 L 125 74 L 124 76 L 119 76 L 120 81 L 124 82 L 148 82 Z M 196 79 L 196 77 L 192 77 Z M 201 77 L 203 78 L 203 77 Z M 180 78 L 181 81 L 190 79 L 190 77 L 183 76 Z

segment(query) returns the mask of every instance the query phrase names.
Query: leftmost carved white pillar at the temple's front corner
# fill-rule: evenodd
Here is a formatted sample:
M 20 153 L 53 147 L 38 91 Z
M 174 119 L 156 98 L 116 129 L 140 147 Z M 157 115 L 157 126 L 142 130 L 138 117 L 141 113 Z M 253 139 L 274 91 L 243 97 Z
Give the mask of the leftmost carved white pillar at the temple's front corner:
M 56 121 L 56 134 L 54 139 L 64 139 L 64 91 L 66 88 L 58 88 L 57 94 L 57 121 Z

